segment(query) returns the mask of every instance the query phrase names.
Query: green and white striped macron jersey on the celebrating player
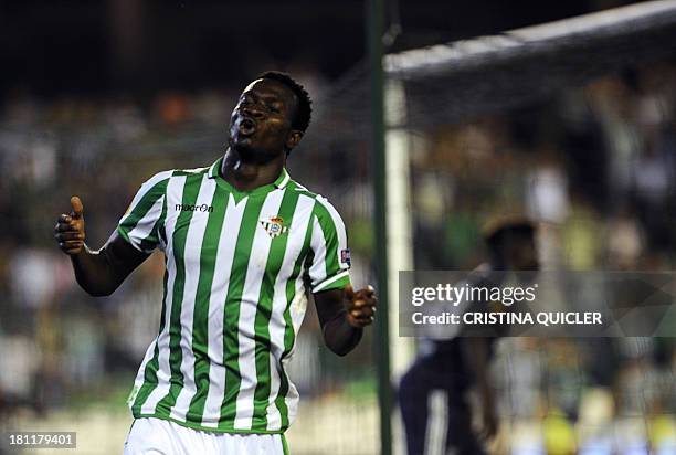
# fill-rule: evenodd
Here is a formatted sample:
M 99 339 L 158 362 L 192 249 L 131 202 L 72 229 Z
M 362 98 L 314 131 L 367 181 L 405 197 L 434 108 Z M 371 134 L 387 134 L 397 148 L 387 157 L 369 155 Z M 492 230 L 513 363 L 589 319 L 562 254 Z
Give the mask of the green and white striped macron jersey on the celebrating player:
M 298 393 L 285 364 L 313 293 L 349 283 L 345 225 L 321 195 L 278 179 L 239 191 L 210 168 L 160 172 L 119 221 L 134 247 L 165 253 L 159 335 L 129 406 L 229 433 L 283 433 Z

